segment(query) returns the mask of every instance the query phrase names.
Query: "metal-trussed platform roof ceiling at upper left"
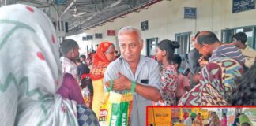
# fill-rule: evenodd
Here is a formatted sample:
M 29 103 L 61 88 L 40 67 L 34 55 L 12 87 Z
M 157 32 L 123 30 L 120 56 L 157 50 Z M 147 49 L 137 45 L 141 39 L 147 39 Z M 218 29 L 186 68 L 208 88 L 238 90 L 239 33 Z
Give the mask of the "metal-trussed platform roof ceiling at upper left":
M 51 20 L 68 22 L 67 35 L 76 35 L 89 28 L 102 26 L 127 13 L 139 12 L 161 0 L 0 0 L 1 5 L 23 3 L 36 6 Z M 50 14 L 49 14 L 50 13 Z M 52 14 L 55 13 L 55 14 Z M 56 14 L 57 13 L 57 14 Z

